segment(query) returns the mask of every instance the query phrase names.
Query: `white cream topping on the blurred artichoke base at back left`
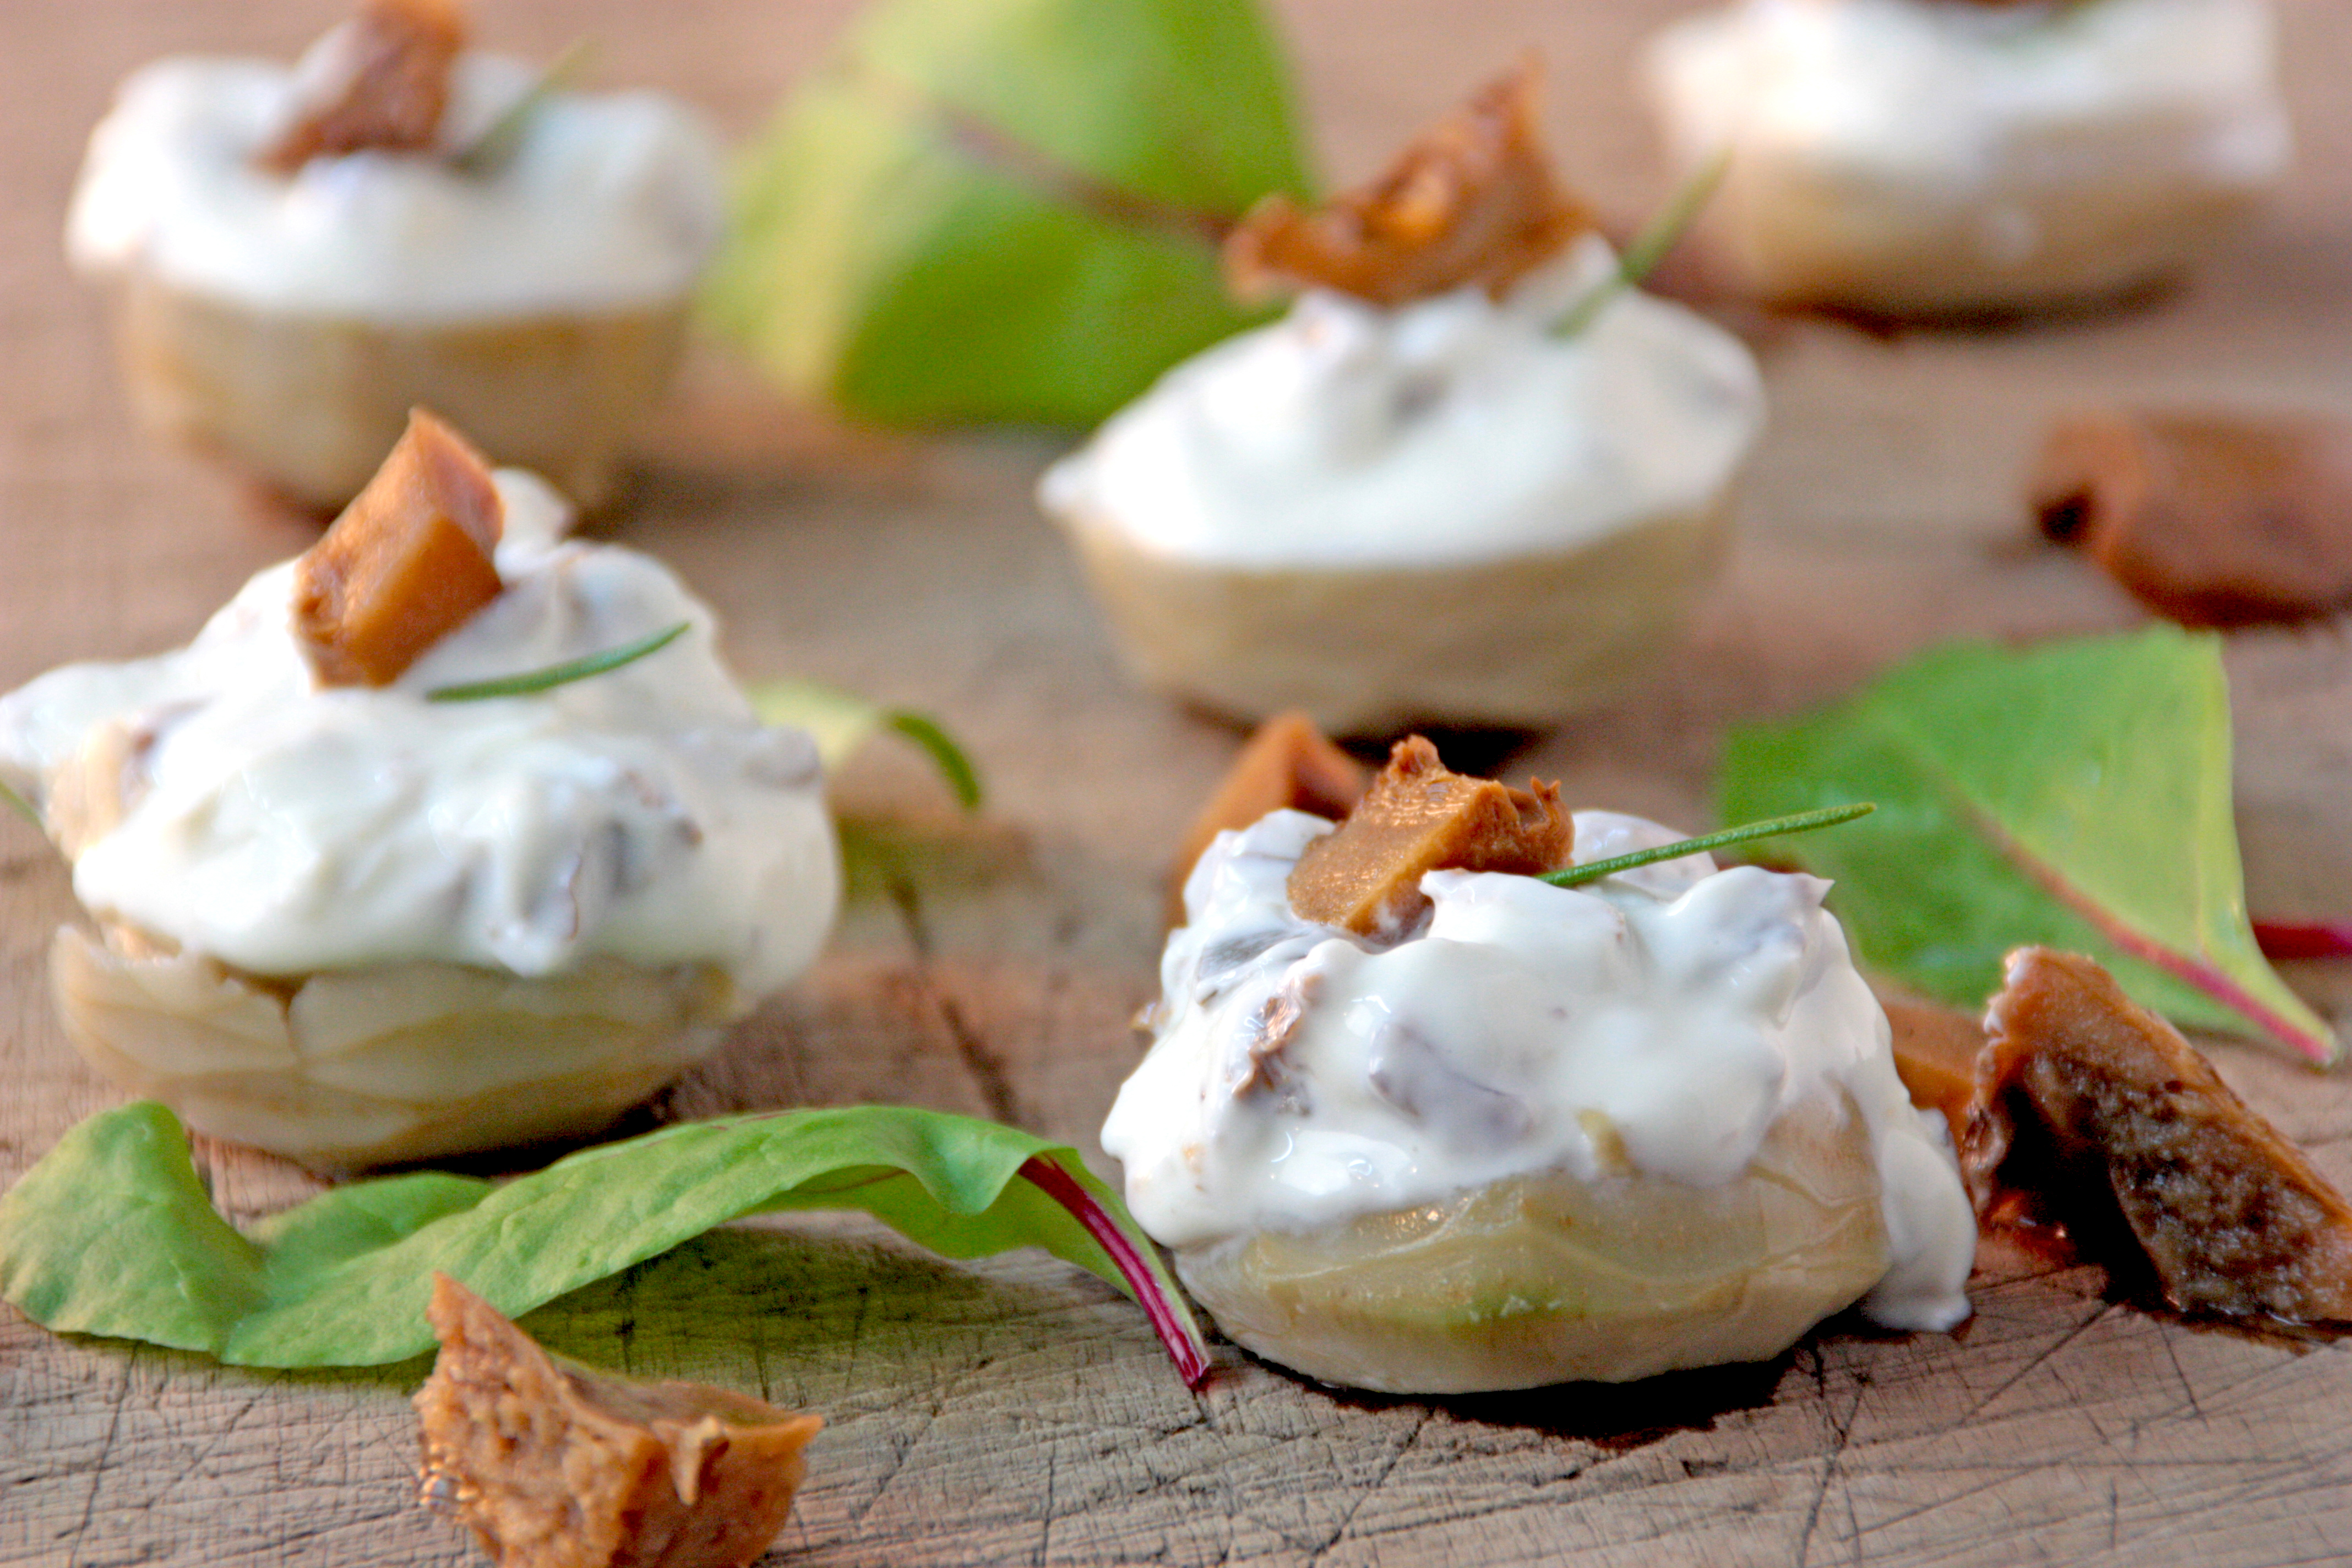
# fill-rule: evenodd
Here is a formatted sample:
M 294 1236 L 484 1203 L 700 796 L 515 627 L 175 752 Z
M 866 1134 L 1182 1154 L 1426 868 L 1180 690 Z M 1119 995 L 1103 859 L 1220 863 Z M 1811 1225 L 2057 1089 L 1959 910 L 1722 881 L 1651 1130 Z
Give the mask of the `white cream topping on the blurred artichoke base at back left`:
M 673 99 L 550 94 L 489 174 L 362 150 L 287 176 L 254 153 L 294 118 L 299 73 L 183 56 L 129 75 L 73 193 L 75 266 L 266 310 L 430 324 L 673 301 L 724 233 L 717 136 Z M 442 150 L 473 146 L 536 78 L 461 54 Z

